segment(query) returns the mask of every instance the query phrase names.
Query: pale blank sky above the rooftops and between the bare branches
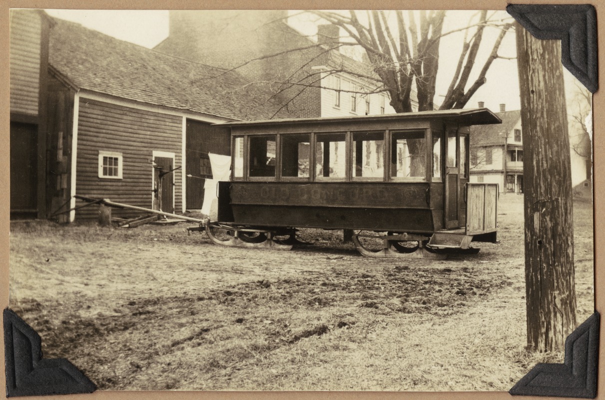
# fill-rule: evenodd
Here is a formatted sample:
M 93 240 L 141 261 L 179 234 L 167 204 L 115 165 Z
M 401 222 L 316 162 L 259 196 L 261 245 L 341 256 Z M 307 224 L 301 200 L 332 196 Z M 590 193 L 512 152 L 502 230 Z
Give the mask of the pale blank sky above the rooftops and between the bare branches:
M 85 27 L 100 31 L 117 39 L 129 41 L 138 45 L 152 48 L 168 36 L 168 11 L 165 10 L 46 10 L 49 15 L 77 22 Z M 473 11 L 448 11 L 443 26 L 443 32 L 459 28 L 466 24 Z M 494 18 L 510 18 L 505 11 L 495 11 Z M 309 18 L 290 18 L 289 23 L 305 34 L 315 34 L 316 28 Z M 486 28 L 483 41 L 471 74 L 477 76 L 491 51 L 495 38 L 499 33 L 494 28 Z M 442 38 L 440 43 L 439 72 L 437 73 L 436 97 L 439 104 L 445 95 L 451 81 L 451 75 L 456 68 L 457 58 L 462 48 L 463 33 L 454 33 Z M 499 55 L 514 57 L 515 35 L 511 31 L 506 34 L 500 47 Z M 506 110 L 518 110 L 520 99 L 518 93 L 517 62 L 509 59 L 496 59 L 489 68 L 487 82 L 467 103 L 466 108 L 476 108 L 477 102 L 485 102 L 485 107 L 499 111 L 501 103 L 506 104 Z

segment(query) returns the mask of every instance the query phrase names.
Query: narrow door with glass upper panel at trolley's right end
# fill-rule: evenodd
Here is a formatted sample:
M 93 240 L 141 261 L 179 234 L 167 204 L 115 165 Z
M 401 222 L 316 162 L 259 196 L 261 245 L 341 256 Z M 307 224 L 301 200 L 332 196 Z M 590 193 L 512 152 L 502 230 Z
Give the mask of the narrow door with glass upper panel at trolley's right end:
M 457 130 L 447 131 L 445 156 L 445 228 L 459 228 L 460 149 Z

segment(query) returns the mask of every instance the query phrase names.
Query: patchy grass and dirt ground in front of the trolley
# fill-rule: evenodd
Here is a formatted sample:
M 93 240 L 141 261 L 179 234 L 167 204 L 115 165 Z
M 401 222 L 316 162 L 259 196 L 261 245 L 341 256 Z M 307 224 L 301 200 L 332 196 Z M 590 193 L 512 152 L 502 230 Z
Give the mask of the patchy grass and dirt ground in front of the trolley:
M 189 223 L 13 221 L 10 307 L 101 390 L 509 390 L 526 352 L 522 196 L 500 244 L 364 258 L 338 231 L 223 248 Z M 578 324 L 594 312 L 592 204 L 574 204 Z

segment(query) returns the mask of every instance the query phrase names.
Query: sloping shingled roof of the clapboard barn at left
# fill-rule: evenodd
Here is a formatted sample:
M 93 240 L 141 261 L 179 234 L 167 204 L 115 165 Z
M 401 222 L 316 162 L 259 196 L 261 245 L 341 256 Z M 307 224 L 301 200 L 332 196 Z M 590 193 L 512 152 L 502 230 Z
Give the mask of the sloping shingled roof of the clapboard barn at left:
M 292 117 L 268 90 L 235 71 L 112 38 L 54 18 L 50 65 L 77 88 L 236 120 Z

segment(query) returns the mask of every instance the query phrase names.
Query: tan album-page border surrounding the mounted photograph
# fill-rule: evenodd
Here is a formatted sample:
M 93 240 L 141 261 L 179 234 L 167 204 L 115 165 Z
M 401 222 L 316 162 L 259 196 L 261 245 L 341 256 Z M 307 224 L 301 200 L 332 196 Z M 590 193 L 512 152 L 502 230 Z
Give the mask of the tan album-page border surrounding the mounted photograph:
M 515 4 L 580 4 L 579 1 L 557 1 L 557 0 L 534 0 L 534 1 L 515 1 Z M 82 2 L 76 1 L 67 1 L 67 0 L 50 0 L 41 4 L 40 2 L 33 0 L 3 0 L 2 1 L 2 13 L 0 15 L 0 46 L 1 53 L 0 54 L 8 54 L 8 9 L 9 8 L 93 8 L 93 9 L 199 9 L 200 2 L 198 1 L 189 1 L 189 0 L 174 0 L 174 1 L 157 1 L 153 3 L 154 7 L 149 7 L 150 3 L 148 1 L 143 0 L 132 0 L 132 1 L 98 1 L 94 3 L 82 4 Z M 206 9 L 221 9 L 221 8 L 235 8 L 235 9 L 279 9 L 284 8 L 283 2 L 279 2 L 276 0 L 270 1 L 245 1 L 245 2 L 236 2 L 236 1 L 206 1 L 203 3 L 203 8 Z M 393 9 L 401 7 L 399 2 L 394 1 L 373 1 L 370 4 L 362 1 L 301 1 L 296 4 L 295 8 L 300 9 L 365 9 L 368 8 L 376 8 L 376 9 Z M 459 1 L 454 4 L 453 2 L 443 2 L 437 0 L 413 0 L 405 3 L 406 9 L 489 9 L 489 10 L 505 10 L 508 2 L 503 0 L 486 0 L 480 4 L 480 7 L 477 7 L 476 2 L 473 1 Z M 597 10 L 597 21 L 598 16 L 601 15 L 602 18 L 605 18 L 605 4 L 595 2 L 593 4 Z M 598 41 L 601 44 L 601 48 L 605 48 L 604 46 L 604 30 L 598 30 Z M 605 51 L 601 51 L 598 54 L 598 59 L 600 61 L 600 65 L 605 65 Z M 8 105 L 8 82 L 9 82 L 9 74 L 8 74 L 8 58 L 3 57 L 0 60 L 0 76 L 2 82 L 0 84 L 0 96 L 4 99 L 3 104 Z M 601 67 L 602 68 L 602 67 Z M 601 90 L 603 91 L 603 90 Z M 605 96 L 601 94 L 601 91 L 597 91 L 597 93 L 593 96 L 593 125 L 594 126 L 604 126 L 603 121 L 605 120 L 605 116 L 599 113 L 600 110 L 605 109 Z M 2 108 L 0 110 L 0 120 L 2 121 L 2 126 L 5 127 L 3 130 L 5 134 L 5 138 L 8 142 L 8 130 L 6 129 L 7 123 L 9 120 L 10 111 L 8 107 Z M 605 151 L 605 141 L 601 139 L 599 134 L 595 134 L 593 137 L 593 148 L 594 154 L 601 154 Z M 8 146 L 4 146 L 2 149 L 2 157 L 0 157 L 0 165 L 2 168 L 2 172 L 0 173 L 0 182 L 4 185 L 5 188 L 9 188 L 9 148 Z M 602 197 L 605 195 L 603 185 L 605 184 L 605 162 L 600 159 L 596 159 L 594 162 L 594 212 L 595 215 L 602 215 L 605 211 L 605 206 L 603 205 Z M 2 299 L 2 308 L 8 306 L 8 280 L 9 280 L 9 272 L 8 272 L 8 237 L 9 237 L 9 218 L 10 218 L 10 208 L 8 206 L 9 202 L 9 193 L 8 190 L 5 190 L 2 194 L 2 206 L 0 206 L 0 217 L 2 218 L 2 229 L 5 232 L 3 236 L 4 240 L 2 240 L 2 244 L 0 245 L 1 253 L 2 253 L 2 268 L 0 269 L 0 293 Z M 605 222 L 603 219 L 595 218 L 594 220 L 594 248 L 595 248 L 595 258 L 594 258 L 594 282 L 595 282 L 595 310 L 598 312 L 603 312 L 605 306 L 605 296 L 603 295 L 603 290 L 605 288 L 605 272 L 603 272 L 603 263 L 600 258 L 600 254 L 605 254 L 605 250 L 599 249 L 601 242 L 603 241 L 603 232 L 605 229 Z M 597 283 L 600 282 L 600 285 Z M 27 322 L 27 321 L 25 321 Z M 583 322 L 583 321 L 578 321 Z M 604 332 L 604 327 L 600 327 L 601 335 Z M 1 356 L 4 359 L 4 346 L 0 350 Z M 603 349 L 599 349 L 600 359 L 605 359 Z M 4 362 L 2 362 L 4 366 Z M 528 371 L 529 372 L 529 371 Z M 2 377 L 0 378 L 0 385 L 4 388 L 6 385 L 5 374 L 1 373 Z M 599 370 L 598 379 L 597 379 L 597 395 L 603 392 L 605 388 L 605 370 Z M 1 390 L 4 393 L 4 389 Z M 278 399 L 278 398 L 299 398 L 299 399 L 318 399 L 318 398 L 329 398 L 329 399 L 370 399 L 370 398 L 381 398 L 381 399 L 396 399 L 396 398 L 411 398 L 411 399 L 434 399 L 434 398 L 453 398 L 453 399 L 480 399 L 485 398 L 486 395 L 489 395 L 490 398 L 493 399 L 504 399 L 509 398 L 509 393 L 507 392 L 95 392 L 91 395 L 70 395 L 70 399 L 163 399 L 163 398 L 179 398 L 179 399 L 199 399 L 199 398 L 212 398 L 212 399 Z M 598 396 L 599 398 L 601 396 Z M 45 398 L 51 398 L 45 396 Z

